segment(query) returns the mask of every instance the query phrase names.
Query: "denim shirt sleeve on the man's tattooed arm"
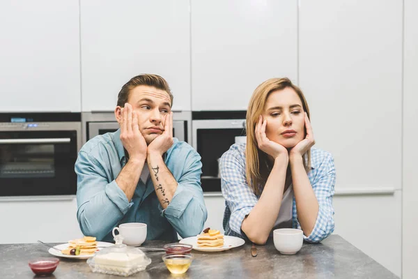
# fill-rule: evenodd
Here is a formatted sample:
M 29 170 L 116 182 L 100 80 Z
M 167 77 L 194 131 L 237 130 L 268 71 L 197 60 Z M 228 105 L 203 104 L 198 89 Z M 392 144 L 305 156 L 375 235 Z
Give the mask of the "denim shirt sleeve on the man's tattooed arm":
M 202 163 L 199 153 L 190 149 L 185 158 L 183 174 L 167 209 L 158 208 L 162 216 L 185 238 L 200 234 L 208 218 L 201 188 Z

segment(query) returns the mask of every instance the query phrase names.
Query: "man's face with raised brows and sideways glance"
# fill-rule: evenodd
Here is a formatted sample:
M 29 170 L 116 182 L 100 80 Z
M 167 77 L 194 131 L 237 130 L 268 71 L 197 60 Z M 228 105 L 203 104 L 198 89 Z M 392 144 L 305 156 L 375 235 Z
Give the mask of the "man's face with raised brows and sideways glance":
M 150 144 L 164 132 L 165 116 L 171 111 L 169 93 L 152 86 L 140 85 L 130 91 L 127 103 L 132 105 L 132 111 L 137 113 L 139 131 L 146 143 Z M 116 117 L 117 115 L 118 113 Z

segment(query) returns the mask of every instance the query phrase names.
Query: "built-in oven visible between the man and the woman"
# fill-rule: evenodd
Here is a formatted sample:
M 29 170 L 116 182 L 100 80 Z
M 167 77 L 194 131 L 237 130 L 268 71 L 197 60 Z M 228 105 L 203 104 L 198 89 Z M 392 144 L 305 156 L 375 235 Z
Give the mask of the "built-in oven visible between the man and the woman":
M 203 192 L 219 193 L 219 158 L 235 142 L 245 142 L 245 111 L 192 112 L 192 146 L 201 156 Z

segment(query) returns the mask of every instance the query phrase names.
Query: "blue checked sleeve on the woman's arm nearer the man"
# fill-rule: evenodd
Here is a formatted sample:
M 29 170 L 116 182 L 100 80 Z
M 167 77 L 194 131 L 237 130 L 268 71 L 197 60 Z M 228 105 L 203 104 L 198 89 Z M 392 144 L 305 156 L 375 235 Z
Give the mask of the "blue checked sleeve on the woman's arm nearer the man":
M 242 221 L 258 202 L 245 179 L 245 158 L 238 149 L 231 147 L 222 155 L 220 163 L 222 195 L 231 211 L 228 225 L 238 236 L 245 237 L 241 230 Z

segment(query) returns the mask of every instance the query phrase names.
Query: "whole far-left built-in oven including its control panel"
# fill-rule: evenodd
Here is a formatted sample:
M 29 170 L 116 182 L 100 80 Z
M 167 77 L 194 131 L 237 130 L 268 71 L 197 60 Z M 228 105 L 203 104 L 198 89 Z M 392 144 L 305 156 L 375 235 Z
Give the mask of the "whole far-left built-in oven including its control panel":
M 0 196 L 75 195 L 80 113 L 0 114 Z

